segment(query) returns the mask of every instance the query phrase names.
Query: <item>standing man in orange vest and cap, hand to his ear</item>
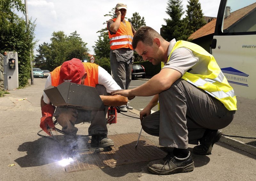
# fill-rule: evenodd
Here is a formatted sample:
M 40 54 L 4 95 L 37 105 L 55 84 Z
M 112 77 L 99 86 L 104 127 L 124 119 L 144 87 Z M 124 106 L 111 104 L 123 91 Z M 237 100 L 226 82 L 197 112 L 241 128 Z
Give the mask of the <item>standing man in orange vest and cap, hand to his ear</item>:
M 124 20 L 127 6 L 116 4 L 116 18 L 109 19 L 107 23 L 110 42 L 110 66 L 114 80 L 121 89 L 128 89 L 132 80 L 132 63 L 134 61 L 132 39 L 136 33 L 132 24 Z M 119 106 L 121 112 L 133 109 L 129 105 Z

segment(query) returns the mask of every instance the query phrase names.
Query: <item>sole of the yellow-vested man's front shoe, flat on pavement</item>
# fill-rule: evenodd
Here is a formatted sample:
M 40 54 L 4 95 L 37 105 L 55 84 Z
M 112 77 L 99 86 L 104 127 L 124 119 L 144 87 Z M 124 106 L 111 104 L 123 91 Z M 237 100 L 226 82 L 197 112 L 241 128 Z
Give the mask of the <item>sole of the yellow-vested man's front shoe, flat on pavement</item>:
M 178 173 L 178 172 L 180 172 L 180 173 L 190 172 L 190 171 L 193 171 L 194 168 L 195 168 L 194 161 L 193 161 L 193 163 L 190 163 L 185 167 L 177 167 L 173 170 L 168 170 L 168 171 L 166 171 L 166 170 L 157 170 L 157 169 L 154 169 L 154 168 L 152 168 L 148 165 L 148 171 L 150 171 L 154 174 L 157 174 L 157 175 L 170 175 L 170 174 L 174 174 L 174 173 Z

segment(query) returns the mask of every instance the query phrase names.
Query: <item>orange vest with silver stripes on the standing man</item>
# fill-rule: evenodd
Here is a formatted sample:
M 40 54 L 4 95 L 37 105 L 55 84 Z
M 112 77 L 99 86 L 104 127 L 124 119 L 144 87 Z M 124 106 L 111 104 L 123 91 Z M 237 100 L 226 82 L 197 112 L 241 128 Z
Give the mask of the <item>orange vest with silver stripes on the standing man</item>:
M 115 22 L 116 18 L 114 18 L 113 21 Z M 108 31 L 108 37 L 109 37 L 111 50 L 115 50 L 118 48 L 130 48 L 131 50 L 133 50 L 132 48 L 133 33 L 132 33 L 132 25 L 130 22 L 125 21 L 125 24 L 121 22 L 119 29 L 115 34 L 111 35 Z

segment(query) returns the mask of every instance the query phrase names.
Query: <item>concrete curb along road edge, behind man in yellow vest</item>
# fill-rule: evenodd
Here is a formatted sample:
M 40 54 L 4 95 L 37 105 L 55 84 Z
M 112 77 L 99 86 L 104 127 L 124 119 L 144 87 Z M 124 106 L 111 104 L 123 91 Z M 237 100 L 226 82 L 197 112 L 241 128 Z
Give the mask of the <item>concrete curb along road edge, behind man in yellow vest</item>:
M 129 110 L 129 111 L 140 116 L 140 111 L 138 111 L 136 109 L 132 109 L 132 110 Z M 222 142 L 222 143 L 225 143 L 225 144 L 227 144 L 231 147 L 240 149 L 240 150 L 242 150 L 246 153 L 256 155 L 256 147 L 254 147 L 252 145 L 244 144 L 243 142 L 235 140 L 235 139 L 230 138 L 228 136 L 221 136 L 219 141 Z

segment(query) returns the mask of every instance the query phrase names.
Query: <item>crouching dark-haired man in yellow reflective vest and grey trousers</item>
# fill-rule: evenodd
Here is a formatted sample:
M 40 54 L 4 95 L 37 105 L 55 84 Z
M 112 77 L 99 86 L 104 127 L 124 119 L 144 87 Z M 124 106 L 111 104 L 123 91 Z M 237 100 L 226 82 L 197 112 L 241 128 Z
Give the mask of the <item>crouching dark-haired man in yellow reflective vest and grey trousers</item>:
M 202 47 L 188 42 L 170 42 L 154 29 L 143 26 L 134 35 L 132 46 L 153 65 L 164 62 L 161 71 L 147 83 L 131 90 L 114 91 L 129 100 L 135 96 L 154 96 L 140 112 L 143 130 L 159 136 L 168 154 L 148 163 L 155 174 L 174 174 L 194 170 L 188 144 L 193 152 L 210 155 L 236 112 L 236 96 L 214 57 Z M 160 111 L 150 114 L 159 100 Z M 200 145 L 198 145 L 198 141 Z

